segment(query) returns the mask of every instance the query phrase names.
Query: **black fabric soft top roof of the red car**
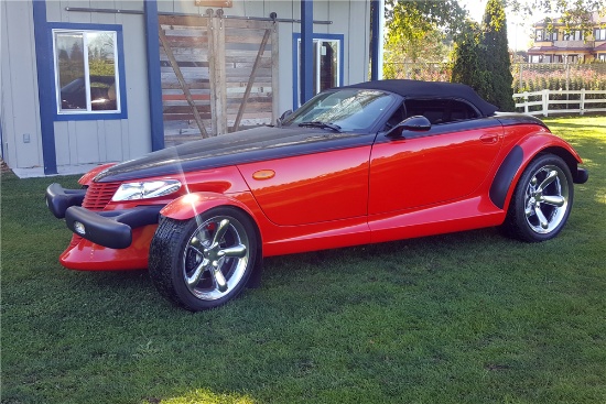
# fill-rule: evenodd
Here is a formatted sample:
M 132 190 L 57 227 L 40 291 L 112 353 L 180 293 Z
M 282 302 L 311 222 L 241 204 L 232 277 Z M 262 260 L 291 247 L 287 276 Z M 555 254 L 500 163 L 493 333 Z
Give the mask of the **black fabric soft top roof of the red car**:
M 390 79 L 359 83 L 346 88 L 390 91 L 404 98 L 459 98 L 476 107 L 484 117 L 489 117 L 498 110 L 496 106 L 481 99 L 472 87 L 464 84 Z

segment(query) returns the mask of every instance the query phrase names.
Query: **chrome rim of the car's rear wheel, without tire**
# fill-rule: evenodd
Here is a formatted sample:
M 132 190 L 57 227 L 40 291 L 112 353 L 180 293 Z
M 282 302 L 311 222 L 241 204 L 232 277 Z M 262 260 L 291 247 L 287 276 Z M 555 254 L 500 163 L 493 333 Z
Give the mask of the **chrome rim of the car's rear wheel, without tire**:
M 569 182 L 556 165 L 539 168 L 524 194 L 524 216 L 530 229 L 545 234 L 558 228 L 569 210 Z

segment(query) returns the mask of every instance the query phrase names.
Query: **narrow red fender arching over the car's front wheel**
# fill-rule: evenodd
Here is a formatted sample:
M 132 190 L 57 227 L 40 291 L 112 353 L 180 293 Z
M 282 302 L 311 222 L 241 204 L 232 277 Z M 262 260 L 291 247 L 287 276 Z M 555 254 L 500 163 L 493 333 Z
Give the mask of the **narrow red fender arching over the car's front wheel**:
M 217 206 L 234 206 L 253 217 L 250 209 L 236 197 L 209 192 L 183 195 L 163 207 L 160 215 L 175 220 L 188 220 Z

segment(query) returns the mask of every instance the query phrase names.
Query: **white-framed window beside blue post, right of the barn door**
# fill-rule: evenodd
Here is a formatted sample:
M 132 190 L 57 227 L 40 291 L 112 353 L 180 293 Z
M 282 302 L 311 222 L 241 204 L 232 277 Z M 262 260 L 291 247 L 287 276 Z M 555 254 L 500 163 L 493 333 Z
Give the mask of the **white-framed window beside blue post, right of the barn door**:
M 342 36 L 342 35 L 336 35 Z M 325 89 L 342 85 L 342 46 L 340 37 L 316 37 L 313 44 L 313 88 L 314 96 Z M 297 87 L 301 88 L 301 37 L 297 39 Z M 299 102 L 301 105 L 301 102 Z

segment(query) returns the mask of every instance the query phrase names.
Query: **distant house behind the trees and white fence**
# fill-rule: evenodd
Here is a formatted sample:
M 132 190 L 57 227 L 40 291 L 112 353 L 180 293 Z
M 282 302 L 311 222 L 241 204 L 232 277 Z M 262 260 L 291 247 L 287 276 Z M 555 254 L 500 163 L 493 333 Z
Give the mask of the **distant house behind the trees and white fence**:
M 606 17 L 594 12 L 592 34 L 580 30 L 566 33 L 558 20 L 550 30 L 545 20 L 533 24 L 534 44 L 528 50 L 530 63 L 577 63 L 599 59 L 606 62 Z

